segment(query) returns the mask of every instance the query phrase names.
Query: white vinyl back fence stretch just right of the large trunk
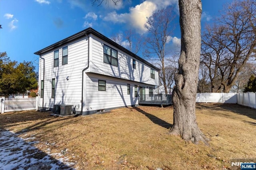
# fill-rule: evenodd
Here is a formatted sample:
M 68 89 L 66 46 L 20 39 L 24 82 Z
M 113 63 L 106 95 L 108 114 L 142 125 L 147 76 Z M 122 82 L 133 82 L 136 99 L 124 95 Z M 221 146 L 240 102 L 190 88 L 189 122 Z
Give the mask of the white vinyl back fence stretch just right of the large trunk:
M 236 93 L 196 93 L 196 103 L 237 103 Z

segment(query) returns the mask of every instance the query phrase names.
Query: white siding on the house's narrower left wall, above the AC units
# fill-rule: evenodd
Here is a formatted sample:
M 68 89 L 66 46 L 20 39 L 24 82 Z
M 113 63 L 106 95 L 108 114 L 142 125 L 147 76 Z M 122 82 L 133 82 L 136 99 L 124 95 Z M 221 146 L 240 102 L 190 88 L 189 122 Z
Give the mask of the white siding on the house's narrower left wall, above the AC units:
M 68 47 L 68 64 L 54 66 L 52 57 L 54 51 L 59 50 L 62 56 L 62 48 Z M 58 49 L 42 55 L 40 59 L 40 77 L 43 79 L 43 65 L 45 65 L 44 75 L 44 107 L 53 108 L 54 104 L 80 105 L 82 98 L 82 70 L 88 63 L 88 38 L 82 38 L 75 42 L 66 44 Z M 62 57 L 59 58 L 62 63 Z M 66 78 L 69 76 L 69 80 Z M 52 98 L 52 79 L 55 79 L 55 96 Z M 40 89 L 40 88 L 39 88 Z M 40 98 L 39 107 L 42 107 Z M 76 107 L 77 108 L 77 107 Z M 81 107 L 77 110 L 80 111 Z

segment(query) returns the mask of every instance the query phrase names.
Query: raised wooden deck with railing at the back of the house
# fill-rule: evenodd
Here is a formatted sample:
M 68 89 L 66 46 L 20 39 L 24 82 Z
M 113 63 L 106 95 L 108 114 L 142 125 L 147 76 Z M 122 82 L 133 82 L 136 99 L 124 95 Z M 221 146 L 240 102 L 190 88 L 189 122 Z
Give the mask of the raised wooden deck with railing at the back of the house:
M 171 105 L 172 95 L 139 95 L 139 105 Z

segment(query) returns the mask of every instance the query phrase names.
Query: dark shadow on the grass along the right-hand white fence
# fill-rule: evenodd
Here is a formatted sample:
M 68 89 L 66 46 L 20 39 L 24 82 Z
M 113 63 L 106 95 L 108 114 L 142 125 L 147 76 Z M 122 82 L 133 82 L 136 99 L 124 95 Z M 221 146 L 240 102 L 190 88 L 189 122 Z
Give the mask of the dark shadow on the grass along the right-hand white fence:
M 237 105 L 237 104 L 228 104 L 228 103 L 209 103 L 209 104 L 202 104 L 202 103 L 197 103 L 196 104 L 196 109 L 210 109 L 212 110 L 212 114 L 214 111 L 231 111 L 235 114 L 238 115 L 244 115 L 247 116 L 251 119 L 256 120 L 256 109 L 252 109 L 250 107 L 245 107 L 242 105 Z M 220 113 L 218 113 L 220 115 Z M 229 117 L 232 118 L 230 114 L 226 113 L 221 113 L 222 116 L 224 117 Z M 237 119 L 237 117 L 234 117 L 234 119 Z

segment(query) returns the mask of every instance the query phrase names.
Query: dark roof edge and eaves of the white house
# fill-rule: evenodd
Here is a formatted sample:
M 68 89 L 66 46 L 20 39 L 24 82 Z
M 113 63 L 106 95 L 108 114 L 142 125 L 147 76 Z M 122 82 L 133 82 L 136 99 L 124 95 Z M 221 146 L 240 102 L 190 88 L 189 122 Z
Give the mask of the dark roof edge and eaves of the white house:
M 122 47 L 122 46 L 119 45 L 118 43 L 116 43 L 116 42 L 110 40 L 110 39 L 107 38 L 106 36 L 100 34 L 99 32 L 97 32 L 96 30 L 94 30 L 94 29 L 92 29 L 92 28 L 90 28 L 90 27 L 89 27 L 89 28 L 86 28 L 85 30 L 82 30 L 82 31 L 80 31 L 80 32 L 78 32 L 78 33 L 76 33 L 76 34 L 74 34 L 74 35 L 68 37 L 68 38 L 65 38 L 65 39 L 63 39 L 63 40 L 60 40 L 59 42 L 56 42 L 56 43 L 54 43 L 54 44 L 52 44 L 52 45 L 49 45 L 48 47 L 45 47 L 45 48 L 43 48 L 43 49 L 41 49 L 41 50 L 39 50 L 39 51 L 36 51 L 34 54 L 36 54 L 36 55 L 42 55 L 42 54 L 47 53 L 47 52 L 49 52 L 49 51 L 52 51 L 52 50 L 54 50 L 54 49 L 56 49 L 56 48 L 58 48 L 58 47 L 60 47 L 60 46 L 62 46 L 62 45 L 65 45 L 65 44 L 67 44 L 67 43 L 73 42 L 73 41 L 78 40 L 78 39 L 80 39 L 80 38 L 82 38 L 82 37 L 85 37 L 85 36 L 87 36 L 87 35 L 89 35 L 89 34 L 93 34 L 94 36 L 96 36 L 96 37 L 98 37 L 98 38 L 104 40 L 105 42 L 107 42 L 107 43 L 113 45 L 114 47 L 116 47 L 116 48 L 118 48 L 118 49 L 121 49 L 122 51 L 124 51 L 125 53 L 131 55 L 132 57 L 134 57 L 134 58 L 136 58 L 136 59 L 138 59 L 138 60 L 140 60 L 140 61 L 142 61 L 142 62 L 144 62 L 144 63 L 146 63 L 146 64 L 148 64 L 148 65 L 150 65 L 150 67 L 153 67 L 154 69 L 160 71 L 160 69 L 158 69 L 156 66 L 152 65 L 152 64 L 149 63 L 148 61 L 142 59 L 142 58 L 139 57 L 138 55 L 132 53 L 132 52 L 129 51 L 128 49 Z

